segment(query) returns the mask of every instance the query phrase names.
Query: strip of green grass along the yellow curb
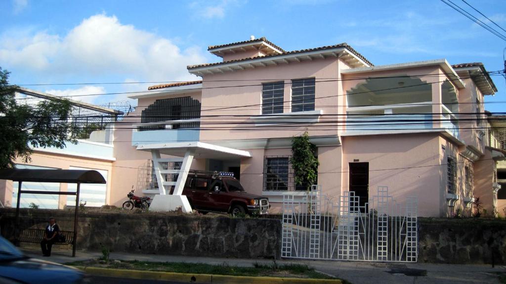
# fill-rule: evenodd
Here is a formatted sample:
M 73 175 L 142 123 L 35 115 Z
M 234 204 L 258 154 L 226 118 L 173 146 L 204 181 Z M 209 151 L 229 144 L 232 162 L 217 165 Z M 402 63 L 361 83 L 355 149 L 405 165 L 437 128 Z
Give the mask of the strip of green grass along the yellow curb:
M 274 276 L 274 277 L 298 277 L 298 278 L 316 278 L 316 279 L 336 279 L 326 274 L 317 272 L 314 268 L 304 264 L 260 264 L 255 263 L 252 267 L 231 266 L 228 263 L 221 265 L 211 265 L 204 263 L 188 262 L 148 262 L 148 261 L 121 261 L 115 263 L 109 261 L 106 264 L 98 260 L 76 261 L 67 263 L 73 266 L 94 266 L 115 269 L 134 269 L 164 271 L 176 273 L 195 273 L 195 274 L 218 274 L 234 276 Z

